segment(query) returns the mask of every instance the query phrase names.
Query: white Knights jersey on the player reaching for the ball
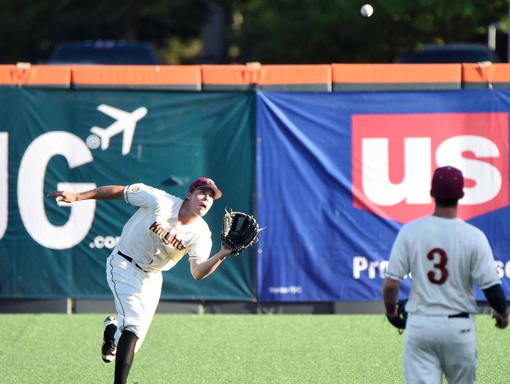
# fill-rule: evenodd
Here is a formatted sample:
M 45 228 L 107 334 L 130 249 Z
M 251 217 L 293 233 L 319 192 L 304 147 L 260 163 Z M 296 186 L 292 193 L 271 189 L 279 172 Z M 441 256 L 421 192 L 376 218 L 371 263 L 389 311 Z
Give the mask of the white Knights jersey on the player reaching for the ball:
M 193 259 L 209 258 L 212 240 L 205 220 L 178 225 L 184 200 L 145 184 L 127 185 L 124 199 L 140 209 L 124 225 L 117 249 L 144 271 L 167 271 L 186 253 Z

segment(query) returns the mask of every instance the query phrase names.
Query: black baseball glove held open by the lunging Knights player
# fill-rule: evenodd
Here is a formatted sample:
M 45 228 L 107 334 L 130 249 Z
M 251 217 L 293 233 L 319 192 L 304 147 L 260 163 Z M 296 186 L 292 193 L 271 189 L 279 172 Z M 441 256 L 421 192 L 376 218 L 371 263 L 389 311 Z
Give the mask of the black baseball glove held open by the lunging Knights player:
M 243 212 L 228 212 L 225 207 L 223 228 L 221 230 L 221 244 L 232 249 L 232 255 L 239 255 L 253 243 L 259 241 L 259 224 L 249 214 Z

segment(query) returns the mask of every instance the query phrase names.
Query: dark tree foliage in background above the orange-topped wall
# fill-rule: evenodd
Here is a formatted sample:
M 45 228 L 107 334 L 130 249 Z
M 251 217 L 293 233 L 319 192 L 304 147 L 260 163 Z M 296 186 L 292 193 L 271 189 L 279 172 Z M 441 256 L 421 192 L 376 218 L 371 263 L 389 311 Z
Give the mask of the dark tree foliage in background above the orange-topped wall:
M 86 39 L 148 41 L 171 63 L 200 62 L 197 41 L 210 20 L 211 4 L 0 0 L 0 62 L 37 62 L 48 58 L 58 42 Z M 385 63 L 420 43 L 487 41 L 491 23 L 508 28 L 508 2 L 503 0 L 374 0 L 368 18 L 360 14 L 363 2 L 347 0 L 214 4 L 223 14 L 217 26 L 225 46 L 221 63 Z M 185 58 L 190 52 L 195 57 Z

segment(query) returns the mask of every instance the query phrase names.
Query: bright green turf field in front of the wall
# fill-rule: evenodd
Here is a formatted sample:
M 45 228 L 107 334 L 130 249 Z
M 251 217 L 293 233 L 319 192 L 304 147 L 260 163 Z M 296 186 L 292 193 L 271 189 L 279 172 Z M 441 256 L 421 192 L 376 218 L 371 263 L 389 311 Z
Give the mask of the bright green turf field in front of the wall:
M 0 315 L 0 383 L 110 383 L 107 315 Z M 510 329 L 478 315 L 478 383 L 507 383 Z M 130 384 L 403 383 L 403 336 L 377 315 L 156 315 Z

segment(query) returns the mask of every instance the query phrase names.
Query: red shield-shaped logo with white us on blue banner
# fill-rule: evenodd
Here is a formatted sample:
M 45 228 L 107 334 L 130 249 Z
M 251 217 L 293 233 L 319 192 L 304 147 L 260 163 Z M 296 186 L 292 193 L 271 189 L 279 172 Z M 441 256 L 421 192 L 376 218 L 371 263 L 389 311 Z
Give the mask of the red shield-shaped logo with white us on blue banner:
M 433 212 L 432 173 L 452 165 L 465 178 L 458 217 L 508 205 L 508 113 L 352 116 L 356 208 L 407 223 Z

